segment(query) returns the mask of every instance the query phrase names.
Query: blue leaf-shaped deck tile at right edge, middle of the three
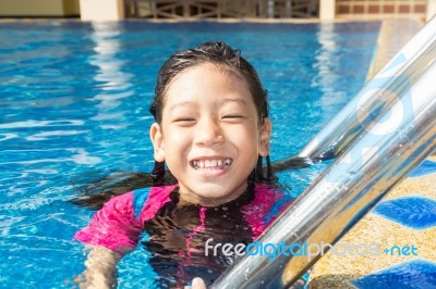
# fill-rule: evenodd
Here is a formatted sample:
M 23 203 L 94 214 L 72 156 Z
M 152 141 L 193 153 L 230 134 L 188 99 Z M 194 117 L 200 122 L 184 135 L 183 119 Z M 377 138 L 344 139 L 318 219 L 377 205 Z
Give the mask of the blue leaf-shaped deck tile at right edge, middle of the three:
M 413 229 L 436 226 L 436 201 L 423 197 L 405 197 L 379 203 L 373 211 Z

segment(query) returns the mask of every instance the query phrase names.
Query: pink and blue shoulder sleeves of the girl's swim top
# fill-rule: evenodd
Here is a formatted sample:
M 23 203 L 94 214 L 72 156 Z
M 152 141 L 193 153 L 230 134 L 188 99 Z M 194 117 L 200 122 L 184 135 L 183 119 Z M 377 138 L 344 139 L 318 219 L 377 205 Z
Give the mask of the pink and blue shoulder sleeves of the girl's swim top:
M 74 239 L 113 251 L 135 247 L 144 224 L 170 201 L 169 194 L 177 187 L 173 185 L 137 189 L 110 199 L 93 216 L 90 224 L 77 231 Z M 275 216 L 268 218 L 268 213 L 283 196 L 266 185 L 257 184 L 254 191 L 254 200 L 242 206 L 241 211 L 256 238 L 274 221 Z

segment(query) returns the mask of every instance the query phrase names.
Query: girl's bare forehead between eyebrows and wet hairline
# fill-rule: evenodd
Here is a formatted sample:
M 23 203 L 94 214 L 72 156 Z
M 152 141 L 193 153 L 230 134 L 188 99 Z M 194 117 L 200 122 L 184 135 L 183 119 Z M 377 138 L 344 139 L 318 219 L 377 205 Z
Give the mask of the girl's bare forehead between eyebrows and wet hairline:
M 165 106 L 169 102 L 229 97 L 243 98 L 253 103 L 249 85 L 238 71 L 223 65 L 203 63 L 186 68 L 170 81 L 165 93 Z

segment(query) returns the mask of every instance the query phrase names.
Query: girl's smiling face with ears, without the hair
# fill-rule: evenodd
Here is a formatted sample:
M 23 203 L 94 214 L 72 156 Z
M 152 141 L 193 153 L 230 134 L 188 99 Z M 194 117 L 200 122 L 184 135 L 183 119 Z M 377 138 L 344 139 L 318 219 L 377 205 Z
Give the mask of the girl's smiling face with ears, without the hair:
M 166 161 L 190 203 L 219 205 L 237 199 L 258 155 L 269 152 L 270 122 L 257 116 L 239 73 L 204 63 L 169 84 L 161 124 L 150 138 L 156 161 Z

